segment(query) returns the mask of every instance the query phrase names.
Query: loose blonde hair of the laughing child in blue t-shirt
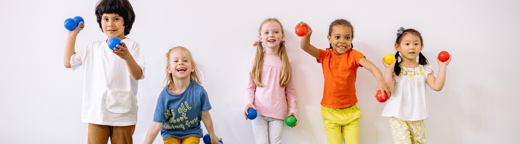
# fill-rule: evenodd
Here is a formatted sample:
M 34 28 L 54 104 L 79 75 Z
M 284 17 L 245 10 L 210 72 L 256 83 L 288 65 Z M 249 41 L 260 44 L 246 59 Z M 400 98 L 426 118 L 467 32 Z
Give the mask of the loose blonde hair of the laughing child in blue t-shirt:
M 190 59 L 190 61 L 191 61 L 191 64 L 194 65 L 193 72 L 191 72 L 191 74 L 190 74 L 190 79 L 193 80 L 194 82 L 201 84 L 202 77 L 201 77 L 201 72 L 199 70 L 200 69 L 199 65 L 197 65 L 197 63 L 193 60 L 193 57 L 191 56 L 190 51 L 188 49 L 186 49 L 185 47 L 175 47 L 175 48 L 169 49 L 168 52 L 166 52 L 166 66 L 170 65 L 170 52 L 172 52 L 173 50 L 176 50 L 176 49 L 182 50 L 181 54 L 188 57 L 188 59 Z M 173 83 L 174 81 L 173 81 L 172 74 L 168 73 L 168 70 L 166 70 L 166 79 L 168 81 L 167 81 L 167 84 L 164 85 L 164 88 L 168 87 L 169 89 L 173 89 L 175 87 L 175 84 Z M 165 79 L 165 81 L 166 81 L 166 79 Z

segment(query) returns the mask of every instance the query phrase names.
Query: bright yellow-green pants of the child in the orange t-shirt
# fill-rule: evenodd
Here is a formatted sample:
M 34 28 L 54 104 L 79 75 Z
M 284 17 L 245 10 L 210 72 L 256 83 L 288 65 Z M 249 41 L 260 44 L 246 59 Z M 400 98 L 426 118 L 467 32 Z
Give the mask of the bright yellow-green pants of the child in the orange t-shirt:
M 359 124 L 361 111 L 353 105 L 345 109 L 321 106 L 321 118 L 327 134 L 328 144 L 341 144 L 341 136 L 347 143 L 359 143 Z

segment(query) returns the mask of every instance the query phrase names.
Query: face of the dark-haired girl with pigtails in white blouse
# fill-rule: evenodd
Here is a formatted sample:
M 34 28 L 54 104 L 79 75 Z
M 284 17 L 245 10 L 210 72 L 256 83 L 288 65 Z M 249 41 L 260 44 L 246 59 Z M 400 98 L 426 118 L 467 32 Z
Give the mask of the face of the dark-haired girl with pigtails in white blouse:
M 405 33 L 401 35 L 400 44 L 395 44 L 395 50 L 401 53 L 403 59 L 415 61 L 422 50 L 421 39 L 413 33 Z

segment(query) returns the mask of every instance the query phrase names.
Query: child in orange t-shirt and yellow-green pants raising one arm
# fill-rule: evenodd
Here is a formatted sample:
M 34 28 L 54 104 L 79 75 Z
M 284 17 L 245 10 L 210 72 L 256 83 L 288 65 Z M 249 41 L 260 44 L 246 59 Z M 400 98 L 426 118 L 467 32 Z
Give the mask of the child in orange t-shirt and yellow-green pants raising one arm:
M 323 98 L 321 99 L 321 117 L 327 143 L 342 143 L 343 135 L 345 143 L 358 143 L 360 109 L 356 106 L 356 73 L 358 67 L 365 67 L 378 81 L 375 92 L 388 91 L 383 74 L 372 62 L 365 59 L 365 55 L 352 49 L 354 27 L 344 19 L 335 20 L 329 26 L 330 48 L 317 49 L 309 44 L 310 35 L 313 33 L 309 25 L 307 35 L 302 37 L 300 46 L 310 55 L 316 57 L 321 63 L 323 77 L 325 79 Z M 374 92 L 374 95 L 375 95 Z

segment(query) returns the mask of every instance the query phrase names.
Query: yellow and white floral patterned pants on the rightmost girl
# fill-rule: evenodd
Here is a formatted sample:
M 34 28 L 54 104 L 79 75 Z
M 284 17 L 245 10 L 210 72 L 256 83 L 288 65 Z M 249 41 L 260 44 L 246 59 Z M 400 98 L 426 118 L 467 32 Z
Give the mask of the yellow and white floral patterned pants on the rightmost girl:
M 390 117 L 390 126 L 395 143 L 426 143 L 424 120 L 403 121 Z

